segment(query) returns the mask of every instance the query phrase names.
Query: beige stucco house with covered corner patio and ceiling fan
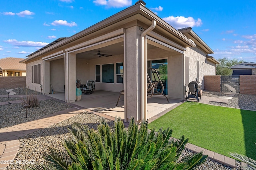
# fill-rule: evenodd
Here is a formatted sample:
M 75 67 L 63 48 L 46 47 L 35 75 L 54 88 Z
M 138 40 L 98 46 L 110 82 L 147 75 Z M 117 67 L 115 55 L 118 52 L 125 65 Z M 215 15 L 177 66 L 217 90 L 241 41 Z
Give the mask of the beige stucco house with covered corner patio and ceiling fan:
M 125 121 L 139 122 L 147 118 L 147 67 L 167 66 L 166 95 L 182 100 L 190 81 L 203 83 L 204 75 L 216 75 L 218 61 L 211 53 L 191 28 L 174 29 L 138 1 L 21 63 L 26 63 L 29 88 L 49 94 L 51 82 L 54 92 L 65 92 L 65 102 L 75 102 L 77 79 L 82 84 L 96 79 L 96 90 L 124 90 Z

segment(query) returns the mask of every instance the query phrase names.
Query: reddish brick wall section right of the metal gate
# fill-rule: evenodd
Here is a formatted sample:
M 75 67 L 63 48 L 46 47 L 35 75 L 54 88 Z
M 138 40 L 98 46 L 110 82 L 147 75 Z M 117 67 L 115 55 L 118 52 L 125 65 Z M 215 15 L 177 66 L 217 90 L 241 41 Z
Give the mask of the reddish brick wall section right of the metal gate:
M 240 75 L 240 94 L 256 94 L 256 75 Z

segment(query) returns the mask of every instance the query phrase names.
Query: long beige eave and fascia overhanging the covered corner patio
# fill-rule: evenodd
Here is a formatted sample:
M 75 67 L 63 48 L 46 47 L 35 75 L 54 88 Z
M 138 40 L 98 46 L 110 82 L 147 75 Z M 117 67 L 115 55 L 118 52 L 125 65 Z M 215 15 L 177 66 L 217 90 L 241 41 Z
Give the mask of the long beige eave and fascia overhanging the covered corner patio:
M 76 33 L 71 37 L 62 39 L 61 41 L 48 47 L 43 47 L 41 51 L 28 55 L 28 59 L 21 61 L 21 63 L 28 63 L 31 59 L 35 59 L 36 57 L 48 53 L 49 51 L 57 51 L 58 49 L 63 50 L 60 47 L 72 47 L 71 43 L 74 44 L 76 42 L 79 42 L 79 40 L 81 41 L 80 38 L 82 37 L 90 39 L 91 37 L 99 35 L 99 33 L 104 33 L 111 29 L 115 29 L 116 27 L 120 27 L 121 25 L 125 25 L 131 20 L 143 23 L 145 25 L 145 28 L 147 28 L 148 25 L 152 24 L 152 20 L 155 20 L 156 27 L 154 30 L 165 34 L 167 37 L 170 37 L 172 41 L 174 41 L 175 43 L 178 42 L 183 47 L 196 47 L 196 43 L 191 41 L 184 34 L 180 33 L 180 31 L 174 29 L 174 27 L 166 23 L 164 20 L 162 20 L 162 18 L 154 14 L 154 12 L 146 8 L 143 1 L 138 1 L 135 5 L 130 6 L 129 8 L 126 8 L 121 12 L 118 12 L 113 16 L 110 16 L 109 18 L 106 18 L 99 23 L 96 23 L 84 29 L 83 31 L 80 31 L 79 33 Z M 97 31 L 99 31 L 99 33 L 97 33 Z

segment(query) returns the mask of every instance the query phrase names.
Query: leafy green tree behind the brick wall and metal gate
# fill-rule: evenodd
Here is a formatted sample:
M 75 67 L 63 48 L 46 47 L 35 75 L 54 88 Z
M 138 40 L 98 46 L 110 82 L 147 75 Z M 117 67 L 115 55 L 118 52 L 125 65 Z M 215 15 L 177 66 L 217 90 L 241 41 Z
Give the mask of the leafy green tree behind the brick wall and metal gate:
M 238 59 L 230 60 L 227 58 L 218 59 L 218 61 L 220 62 L 220 64 L 216 66 L 216 71 L 217 71 L 216 74 L 222 75 L 222 76 L 232 75 L 233 70 L 230 67 L 245 62 L 244 60 L 238 60 Z

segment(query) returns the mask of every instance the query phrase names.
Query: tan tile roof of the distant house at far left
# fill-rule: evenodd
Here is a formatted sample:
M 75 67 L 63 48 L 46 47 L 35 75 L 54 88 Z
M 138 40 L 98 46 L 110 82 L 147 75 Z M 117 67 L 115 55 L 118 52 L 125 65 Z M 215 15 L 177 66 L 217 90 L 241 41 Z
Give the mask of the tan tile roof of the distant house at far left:
M 26 64 L 20 63 L 23 59 L 8 57 L 0 59 L 0 69 L 1 70 L 21 70 L 26 71 Z

